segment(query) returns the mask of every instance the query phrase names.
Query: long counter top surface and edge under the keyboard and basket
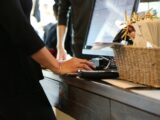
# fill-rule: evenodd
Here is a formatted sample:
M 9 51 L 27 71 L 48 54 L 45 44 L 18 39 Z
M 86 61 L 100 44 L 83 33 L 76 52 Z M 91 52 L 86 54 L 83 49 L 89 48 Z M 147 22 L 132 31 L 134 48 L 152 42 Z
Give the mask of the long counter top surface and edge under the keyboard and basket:
M 85 80 L 75 76 L 58 76 L 48 70 L 43 70 L 43 74 L 47 78 L 59 82 L 65 82 L 71 86 L 160 116 L 159 89 L 123 89 L 101 80 Z

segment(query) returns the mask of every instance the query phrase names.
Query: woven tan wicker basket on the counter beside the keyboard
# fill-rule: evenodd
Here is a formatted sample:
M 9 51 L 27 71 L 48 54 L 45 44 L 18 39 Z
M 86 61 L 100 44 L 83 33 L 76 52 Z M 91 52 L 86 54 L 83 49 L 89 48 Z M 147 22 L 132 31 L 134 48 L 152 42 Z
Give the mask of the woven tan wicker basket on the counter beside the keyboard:
M 113 46 L 120 79 L 160 87 L 160 48 Z

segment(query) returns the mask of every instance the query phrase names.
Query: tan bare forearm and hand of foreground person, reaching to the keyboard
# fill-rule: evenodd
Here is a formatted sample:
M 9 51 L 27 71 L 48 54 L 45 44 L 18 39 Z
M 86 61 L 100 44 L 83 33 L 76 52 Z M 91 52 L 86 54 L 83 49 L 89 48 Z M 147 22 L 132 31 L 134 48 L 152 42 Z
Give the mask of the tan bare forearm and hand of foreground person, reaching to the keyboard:
M 78 58 L 72 58 L 68 61 L 60 63 L 50 54 L 50 52 L 45 47 L 34 53 L 32 58 L 54 73 L 61 75 L 75 73 L 82 69 L 91 70 L 94 68 L 94 65 L 91 62 Z

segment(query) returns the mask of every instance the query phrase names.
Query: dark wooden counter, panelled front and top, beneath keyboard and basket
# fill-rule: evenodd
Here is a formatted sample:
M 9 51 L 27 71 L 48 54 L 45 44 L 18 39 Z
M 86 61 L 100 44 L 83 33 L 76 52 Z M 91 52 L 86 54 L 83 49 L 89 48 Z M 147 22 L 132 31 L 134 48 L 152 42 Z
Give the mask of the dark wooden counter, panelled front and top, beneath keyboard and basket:
M 54 88 L 52 102 L 77 120 L 160 120 L 160 90 L 122 89 L 101 80 L 58 76 L 43 70 L 48 86 Z M 44 87 L 47 91 L 48 87 Z M 151 94 L 147 94 L 147 92 Z M 49 99 L 51 96 L 49 97 Z

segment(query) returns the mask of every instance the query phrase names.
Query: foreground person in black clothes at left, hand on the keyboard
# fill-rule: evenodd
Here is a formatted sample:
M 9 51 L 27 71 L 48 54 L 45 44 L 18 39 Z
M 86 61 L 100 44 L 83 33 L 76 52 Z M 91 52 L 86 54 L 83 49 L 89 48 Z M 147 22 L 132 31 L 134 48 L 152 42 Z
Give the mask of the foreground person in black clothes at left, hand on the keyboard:
M 1 0 L 1 120 L 56 119 L 39 83 L 40 64 L 60 75 L 93 67 L 78 58 L 59 63 L 30 25 L 31 8 L 32 0 Z

